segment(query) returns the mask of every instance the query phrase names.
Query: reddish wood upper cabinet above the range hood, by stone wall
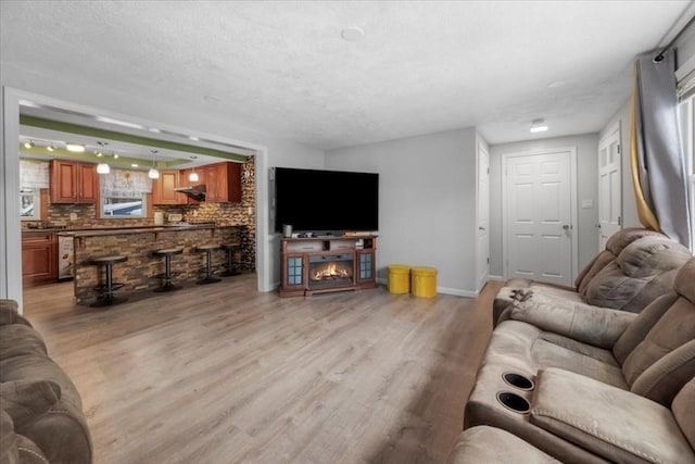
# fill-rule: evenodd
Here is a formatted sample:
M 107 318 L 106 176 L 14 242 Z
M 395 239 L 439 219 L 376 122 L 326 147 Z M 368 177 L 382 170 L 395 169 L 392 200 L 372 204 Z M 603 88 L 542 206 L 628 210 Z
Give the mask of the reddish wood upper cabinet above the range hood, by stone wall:
M 193 170 L 181 171 L 181 184 L 188 187 L 205 185 L 205 201 L 217 203 L 240 203 L 241 202 L 241 164 L 240 163 L 215 163 L 195 168 L 199 180 L 191 183 L 188 180 L 189 174 Z M 188 199 L 189 203 L 198 203 L 193 199 Z

